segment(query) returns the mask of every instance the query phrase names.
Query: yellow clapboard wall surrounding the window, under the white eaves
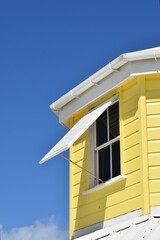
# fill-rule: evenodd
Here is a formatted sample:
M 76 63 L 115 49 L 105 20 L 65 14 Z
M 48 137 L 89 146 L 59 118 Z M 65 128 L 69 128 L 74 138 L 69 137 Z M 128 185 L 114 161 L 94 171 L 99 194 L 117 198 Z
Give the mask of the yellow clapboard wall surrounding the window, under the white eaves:
M 127 176 L 126 182 L 84 196 L 82 192 L 89 188 L 88 173 L 70 165 L 71 238 L 81 228 L 137 209 L 147 214 L 149 204 L 160 204 L 160 85 L 157 83 L 158 79 L 151 75 L 132 78 L 71 118 L 73 126 L 91 108 L 119 93 L 121 174 Z M 70 157 L 89 169 L 88 156 L 86 131 L 71 147 Z

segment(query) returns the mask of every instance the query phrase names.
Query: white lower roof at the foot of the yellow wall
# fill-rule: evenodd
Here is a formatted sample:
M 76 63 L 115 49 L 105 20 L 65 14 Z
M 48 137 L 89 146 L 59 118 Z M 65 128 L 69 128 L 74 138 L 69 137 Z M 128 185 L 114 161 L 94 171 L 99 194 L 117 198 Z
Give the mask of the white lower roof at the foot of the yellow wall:
M 159 240 L 160 217 L 140 216 L 75 240 Z

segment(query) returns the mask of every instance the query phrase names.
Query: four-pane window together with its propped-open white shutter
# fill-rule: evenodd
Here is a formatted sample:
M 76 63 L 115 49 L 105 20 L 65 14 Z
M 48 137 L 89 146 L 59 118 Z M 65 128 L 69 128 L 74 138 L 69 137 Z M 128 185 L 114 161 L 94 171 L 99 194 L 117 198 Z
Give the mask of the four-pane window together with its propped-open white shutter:
M 118 96 L 92 109 L 42 158 L 43 163 L 69 149 L 89 129 L 90 187 L 120 175 Z M 113 179 L 114 180 L 114 179 Z M 101 185 L 102 186 L 102 185 Z

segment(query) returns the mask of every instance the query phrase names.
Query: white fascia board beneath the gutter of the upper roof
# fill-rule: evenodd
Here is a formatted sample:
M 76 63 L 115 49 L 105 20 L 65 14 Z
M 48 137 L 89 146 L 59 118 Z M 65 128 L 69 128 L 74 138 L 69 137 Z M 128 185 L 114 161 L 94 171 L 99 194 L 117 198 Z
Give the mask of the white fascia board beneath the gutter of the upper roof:
M 79 98 L 74 98 L 72 101 L 68 102 L 59 112 L 59 122 L 68 127 L 68 119 L 71 115 L 116 89 L 128 79 L 137 75 L 159 72 L 160 62 L 156 62 L 155 59 L 128 62 L 123 65 L 120 72 L 113 72 L 103 78 L 99 85 L 90 87 L 87 91 L 83 92 Z

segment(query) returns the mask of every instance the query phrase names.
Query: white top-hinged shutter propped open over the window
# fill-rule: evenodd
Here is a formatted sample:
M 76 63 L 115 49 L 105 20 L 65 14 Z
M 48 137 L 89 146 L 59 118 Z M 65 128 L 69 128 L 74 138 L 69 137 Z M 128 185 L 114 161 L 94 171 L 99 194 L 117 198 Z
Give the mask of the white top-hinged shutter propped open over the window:
M 117 95 L 82 117 L 71 130 L 42 158 L 40 164 L 69 149 L 73 143 L 97 120 L 118 98 Z

